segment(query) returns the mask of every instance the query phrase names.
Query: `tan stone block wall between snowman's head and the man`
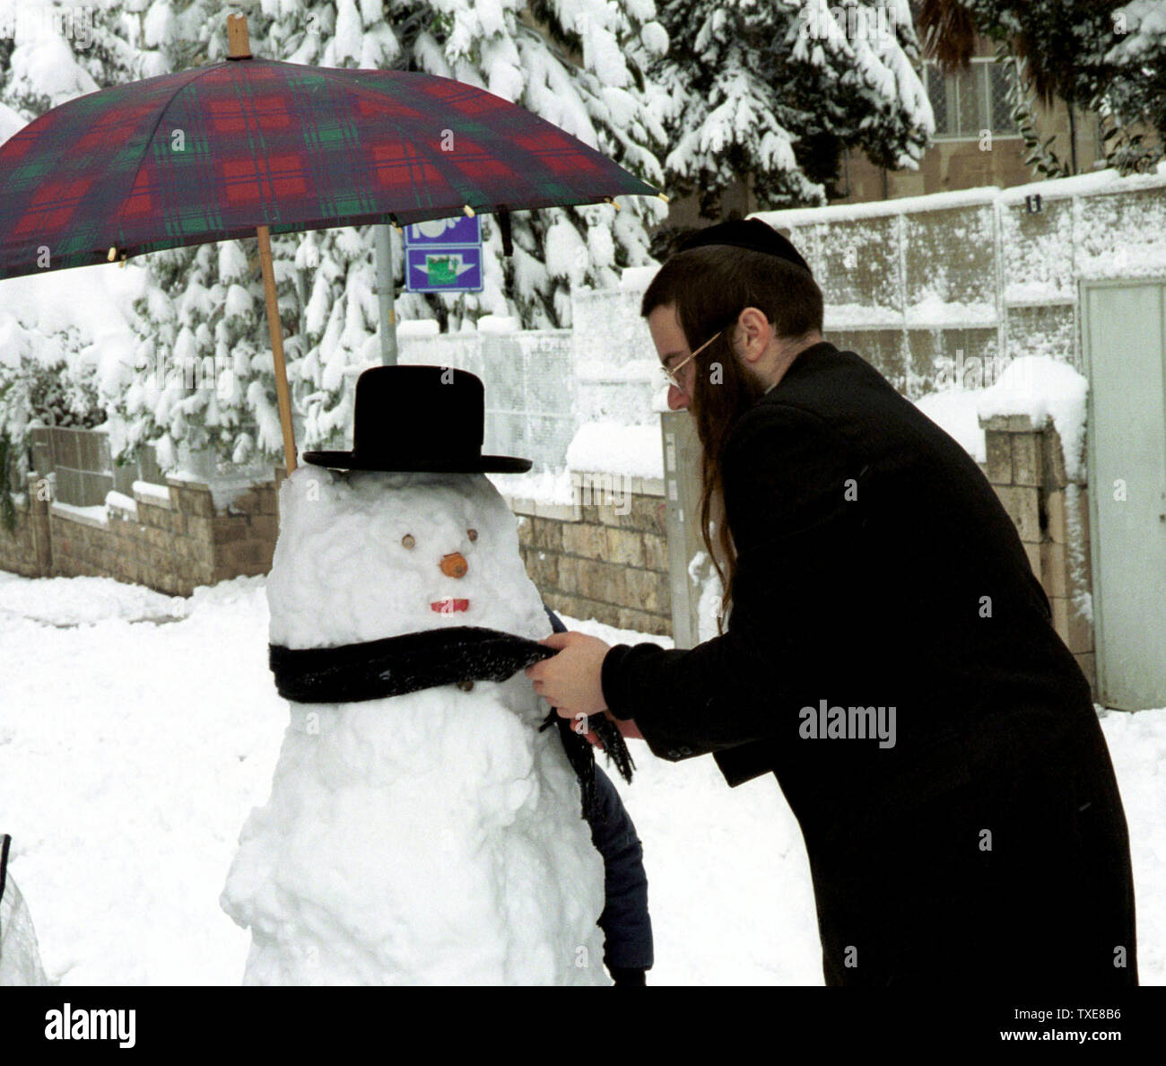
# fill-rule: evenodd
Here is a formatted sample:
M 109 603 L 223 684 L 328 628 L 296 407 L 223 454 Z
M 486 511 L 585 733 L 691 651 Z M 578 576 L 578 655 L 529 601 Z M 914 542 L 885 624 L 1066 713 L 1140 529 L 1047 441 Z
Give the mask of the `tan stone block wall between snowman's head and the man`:
M 663 482 L 576 472 L 571 491 L 570 504 L 510 500 L 543 602 L 573 618 L 670 633 Z

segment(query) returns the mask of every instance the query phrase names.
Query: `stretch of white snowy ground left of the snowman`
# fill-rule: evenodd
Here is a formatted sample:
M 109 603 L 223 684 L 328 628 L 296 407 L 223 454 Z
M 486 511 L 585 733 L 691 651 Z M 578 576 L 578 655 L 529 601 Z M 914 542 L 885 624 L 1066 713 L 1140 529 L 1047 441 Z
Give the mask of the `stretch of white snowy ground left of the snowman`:
M 0 611 L 0 811 L 49 981 L 237 983 L 217 897 L 286 717 L 262 580 L 199 589 L 171 625 L 127 624 L 157 596 L 136 585 L 8 580 L 7 604 L 35 616 L 43 591 L 51 615 Z

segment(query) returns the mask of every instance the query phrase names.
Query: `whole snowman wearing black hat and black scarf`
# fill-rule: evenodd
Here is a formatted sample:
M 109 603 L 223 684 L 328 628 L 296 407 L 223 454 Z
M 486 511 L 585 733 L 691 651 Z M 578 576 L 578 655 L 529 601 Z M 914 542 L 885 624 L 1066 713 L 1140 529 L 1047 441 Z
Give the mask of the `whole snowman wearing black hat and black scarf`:
M 482 455 L 483 423 L 473 374 L 375 367 L 352 451 L 280 490 L 290 722 L 220 897 L 244 983 L 609 983 L 603 861 L 521 671 L 547 616 L 485 477 L 531 463 Z

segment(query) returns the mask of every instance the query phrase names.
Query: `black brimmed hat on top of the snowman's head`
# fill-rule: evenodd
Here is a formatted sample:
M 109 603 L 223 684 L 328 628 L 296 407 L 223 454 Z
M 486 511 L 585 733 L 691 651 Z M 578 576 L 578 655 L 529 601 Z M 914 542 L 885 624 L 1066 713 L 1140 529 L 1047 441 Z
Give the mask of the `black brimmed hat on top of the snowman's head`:
M 305 451 L 339 470 L 525 474 L 531 460 L 483 455 L 482 378 L 451 366 L 374 366 L 357 378 L 351 451 Z

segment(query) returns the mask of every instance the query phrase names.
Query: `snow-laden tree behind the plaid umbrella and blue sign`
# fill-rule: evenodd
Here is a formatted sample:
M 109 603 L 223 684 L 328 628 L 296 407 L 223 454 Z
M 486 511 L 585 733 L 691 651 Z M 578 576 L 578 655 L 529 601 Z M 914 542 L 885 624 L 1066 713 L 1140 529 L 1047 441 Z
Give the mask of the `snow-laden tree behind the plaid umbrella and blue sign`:
M 522 0 L 262 0 L 248 9 L 248 23 L 255 55 L 454 77 L 527 107 L 662 185 L 654 149 L 663 139 L 659 115 L 666 100 L 642 72 L 667 44 L 652 0 L 542 0 L 525 8 Z M 208 20 L 202 0 L 174 0 L 169 20 L 152 23 L 170 27 L 171 36 L 157 30 L 150 41 L 167 56 L 213 62 L 226 54 L 222 21 L 219 12 Z M 398 317 L 436 317 L 457 330 L 496 313 L 528 328 L 567 327 L 571 285 L 611 285 L 619 267 L 651 260 L 646 227 L 662 220 L 666 206 L 648 198 L 623 206 L 518 212 L 511 259 L 501 254 L 492 216 L 483 216 L 480 294 L 401 292 L 398 237 Z M 272 244 L 293 405 L 304 419 L 300 442 L 335 446 L 346 415 L 343 371 L 374 362 L 379 351 L 372 229 L 286 234 Z M 229 258 L 234 268 L 250 257 Z M 257 450 L 279 455 L 254 265 L 227 276 L 220 255 L 194 248 L 149 261 L 156 286 L 139 306 L 139 371 L 120 411 L 127 446 L 156 440 L 163 462 L 181 442 L 213 447 L 234 462 Z M 230 381 L 215 378 L 216 387 L 208 388 L 198 369 L 227 363 Z M 160 366 L 169 367 L 161 384 Z M 191 387 L 199 374 L 203 387 Z

